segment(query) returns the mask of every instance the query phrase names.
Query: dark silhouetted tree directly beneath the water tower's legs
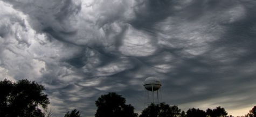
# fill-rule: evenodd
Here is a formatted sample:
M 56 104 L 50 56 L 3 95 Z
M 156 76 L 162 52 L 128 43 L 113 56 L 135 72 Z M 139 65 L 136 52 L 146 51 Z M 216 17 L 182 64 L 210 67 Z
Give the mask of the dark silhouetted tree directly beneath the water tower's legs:
M 176 117 L 176 116 L 181 116 L 181 109 L 179 109 L 178 106 L 176 105 L 170 106 L 165 103 L 160 103 L 160 104 L 151 103 L 147 108 L 145 108 L 142 111 L 140 115 L 140 117 L 146 117 L 146 116 Z

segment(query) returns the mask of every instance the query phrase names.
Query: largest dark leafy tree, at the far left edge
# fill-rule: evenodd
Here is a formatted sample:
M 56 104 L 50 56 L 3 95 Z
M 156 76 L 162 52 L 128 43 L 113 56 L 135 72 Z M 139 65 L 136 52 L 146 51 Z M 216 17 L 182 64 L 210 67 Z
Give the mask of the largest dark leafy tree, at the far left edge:
M 44 116 L 41 107 L 50 104 L 43 85 L 22 79 L 12 83 L 4 79 L 0 82 L 0 116 Z

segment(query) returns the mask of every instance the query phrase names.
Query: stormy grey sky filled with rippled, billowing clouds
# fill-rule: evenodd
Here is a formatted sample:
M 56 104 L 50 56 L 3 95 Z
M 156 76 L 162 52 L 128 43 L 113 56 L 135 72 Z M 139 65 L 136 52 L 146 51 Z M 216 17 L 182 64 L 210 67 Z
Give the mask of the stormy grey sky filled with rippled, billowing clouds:
M 0 11 L 1 81 L 44 85 L 56 116 L 94 116 L 108 92 L 140 114 L 148 77 L 183 111 L 256 105 L 255 0 L 1 0 Z

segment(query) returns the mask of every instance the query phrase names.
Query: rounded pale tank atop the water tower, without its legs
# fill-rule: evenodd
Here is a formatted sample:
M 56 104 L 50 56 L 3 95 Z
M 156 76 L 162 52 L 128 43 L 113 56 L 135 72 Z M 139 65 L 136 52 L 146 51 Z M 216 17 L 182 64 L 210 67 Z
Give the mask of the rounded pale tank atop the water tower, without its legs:
M 147 79 L 145 79 L 145 82 L 143 84 L 143 86 L 145 87 L 145 89 L 147 89 L 148 91 L 157 91 L 158 89 L 160 89 L 161 87 L 161 82 L 158 78 L 156 77 L 148 77 Z

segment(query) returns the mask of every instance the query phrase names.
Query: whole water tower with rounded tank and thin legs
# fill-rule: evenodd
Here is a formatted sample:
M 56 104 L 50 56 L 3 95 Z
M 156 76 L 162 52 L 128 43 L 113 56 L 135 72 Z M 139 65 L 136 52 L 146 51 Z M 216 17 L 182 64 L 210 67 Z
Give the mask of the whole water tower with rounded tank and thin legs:
M 160 96 L 162 98 L 162 92 L 161 92 L 161 82 L 157 77 L 148 77 L 147 79 L 145 79 L 145 82 L 143 84 L 143 86 L 145 87 L 144 89 L 144 108 L 145 108 L 145 90 L 147 90 L 148 92 L 151 91 L 152 93 L 152 101 L 151 103 L 154 103 L 154 91 L 156 91 L 157 93 L 157 103 L 159 103 L 159 99 L 158 99 L 158 90 L 160 89 Z M 148 97 L 148 101 L 147 104 L 149 105 L 149 93 L 147 94 Z

